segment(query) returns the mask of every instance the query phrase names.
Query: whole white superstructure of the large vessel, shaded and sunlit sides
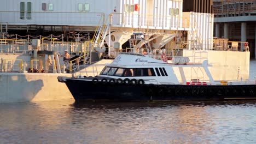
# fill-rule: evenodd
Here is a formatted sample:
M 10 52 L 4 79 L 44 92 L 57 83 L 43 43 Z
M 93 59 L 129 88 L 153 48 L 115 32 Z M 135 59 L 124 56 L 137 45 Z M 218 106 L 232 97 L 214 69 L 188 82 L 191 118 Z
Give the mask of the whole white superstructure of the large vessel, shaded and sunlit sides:
M 181 41 L 189 41 L 186 49 L 211 49 L 213 15 L 183 13 L 182 7 L 180 0 L 3 0 L 0 21 L 3 31 L 38 27 L 63 33 L 101 31 L 100 41 L 105 41 L 109 53 L 116 42 L 121 49 L 135 31 L 152 41 L 155 49 L 183 49 L 177 45 Z

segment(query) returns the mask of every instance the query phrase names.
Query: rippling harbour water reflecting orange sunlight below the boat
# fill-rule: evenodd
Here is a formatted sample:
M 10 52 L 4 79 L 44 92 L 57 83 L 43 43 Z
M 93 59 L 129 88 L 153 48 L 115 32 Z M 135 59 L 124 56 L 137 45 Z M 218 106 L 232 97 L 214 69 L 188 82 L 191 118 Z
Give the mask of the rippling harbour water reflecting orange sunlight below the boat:
M 0 115 L 0 143 L 256 143 L 253 100 L 2 103 Z

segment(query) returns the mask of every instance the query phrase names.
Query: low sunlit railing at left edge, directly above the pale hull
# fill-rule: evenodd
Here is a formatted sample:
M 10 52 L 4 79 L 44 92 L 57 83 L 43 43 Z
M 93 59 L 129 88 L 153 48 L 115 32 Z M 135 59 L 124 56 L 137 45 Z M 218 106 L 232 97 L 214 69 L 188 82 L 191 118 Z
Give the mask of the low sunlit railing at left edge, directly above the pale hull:
M 24 63 L 22 59 L 1 59 L 0 72 L 22 72 Z

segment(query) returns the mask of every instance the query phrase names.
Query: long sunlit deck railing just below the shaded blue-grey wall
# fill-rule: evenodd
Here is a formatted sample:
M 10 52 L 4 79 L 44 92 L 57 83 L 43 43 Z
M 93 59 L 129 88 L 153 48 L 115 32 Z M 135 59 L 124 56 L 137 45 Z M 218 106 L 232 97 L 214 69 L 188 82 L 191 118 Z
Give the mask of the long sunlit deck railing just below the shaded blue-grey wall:
M 54 36 L 51 34 L 48 37 L 43 37 L 41 35 L 38 37 L 32 37 L 31 35 L 20 36 L 16 34 L 16 36 L 5 36 L 9 39 L 0 39 L 0 53 L 30 53 L 33 50 L 31 45 L 33 38 L 41 40 L 38 51 L 56 51 L 60 55 L 63 55 L 65 50 L 73 55 L 77 55 L 78 53 L 84 51 L 84 43 L 65 42 L 62 40 L 63 35 Z

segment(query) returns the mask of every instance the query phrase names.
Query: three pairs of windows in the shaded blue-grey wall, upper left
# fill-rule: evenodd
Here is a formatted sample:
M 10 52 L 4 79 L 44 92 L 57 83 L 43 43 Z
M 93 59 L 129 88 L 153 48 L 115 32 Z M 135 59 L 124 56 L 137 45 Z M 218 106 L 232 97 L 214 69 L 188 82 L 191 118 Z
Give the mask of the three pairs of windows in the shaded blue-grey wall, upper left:
M 49 11 L 54 10 L 53 3 L 49 3 L 47 7 L 47 3 L 42 3 L 42 10 L 46 11 L 48 8 Z M 78 4 L 78 11 L 90 11 L 90 4 L 89 3 L 79 3 Z M 31 13 L 32 13 L 32 3 L 27 2 L 27 11 L 26 11 L 26 18 L 28 20 L 31 19 Z M 20 19 L 25 19 L 25 2 L 20 2 Z

